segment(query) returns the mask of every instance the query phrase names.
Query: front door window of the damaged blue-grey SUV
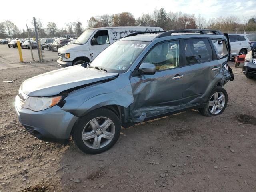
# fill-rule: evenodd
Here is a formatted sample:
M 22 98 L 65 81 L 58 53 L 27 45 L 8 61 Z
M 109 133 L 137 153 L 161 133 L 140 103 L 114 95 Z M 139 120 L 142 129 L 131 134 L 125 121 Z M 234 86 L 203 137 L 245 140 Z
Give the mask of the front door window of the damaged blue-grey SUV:
M 156 71 L 160 71 L 178 67 L 179 59 L 179 41 L 171 41 L 155 46 L 148 52 L 142 63 L 152 63 L 156 66 Z

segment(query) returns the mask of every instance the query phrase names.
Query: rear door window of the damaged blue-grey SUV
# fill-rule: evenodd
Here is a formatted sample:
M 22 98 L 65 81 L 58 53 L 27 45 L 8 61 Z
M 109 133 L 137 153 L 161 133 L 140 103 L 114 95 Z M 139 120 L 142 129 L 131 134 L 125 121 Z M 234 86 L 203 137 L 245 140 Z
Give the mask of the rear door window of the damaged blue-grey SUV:
M 208 39 L 184 40 L 185 65 L 202 63 L 212 60 L 212 48 Z

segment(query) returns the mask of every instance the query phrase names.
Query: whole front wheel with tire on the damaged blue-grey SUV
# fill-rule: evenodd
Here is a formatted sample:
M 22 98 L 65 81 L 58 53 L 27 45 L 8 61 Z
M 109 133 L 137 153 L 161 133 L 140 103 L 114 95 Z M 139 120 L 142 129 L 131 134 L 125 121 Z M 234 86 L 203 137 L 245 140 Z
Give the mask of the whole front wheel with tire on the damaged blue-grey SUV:
M 98 154 L 116 143 L 120 130 L 118 116 L 110 109 L 99 108 L 80 118 L 72 137 L 82 152 Z

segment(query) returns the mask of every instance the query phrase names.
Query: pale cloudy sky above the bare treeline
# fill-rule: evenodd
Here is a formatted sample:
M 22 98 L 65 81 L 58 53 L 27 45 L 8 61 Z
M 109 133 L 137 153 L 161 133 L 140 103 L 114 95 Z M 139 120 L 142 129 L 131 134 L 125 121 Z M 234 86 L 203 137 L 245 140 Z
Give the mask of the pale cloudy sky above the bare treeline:
M 33 17 L 40 18 L 44 27 L 55 22 L 58 28 L 79 19 L 86 27 L 91 16 L 131 12 L 137 18 L 161 7 L 167 13 L 201 14 L 206 19 L 236 15 L 242 20 L 243 16 L 256 15 L 254 0 L 1 0 L 0 22 L 11 20 L 22 30 L 26 28 L 26 20 L 31 26 Z

